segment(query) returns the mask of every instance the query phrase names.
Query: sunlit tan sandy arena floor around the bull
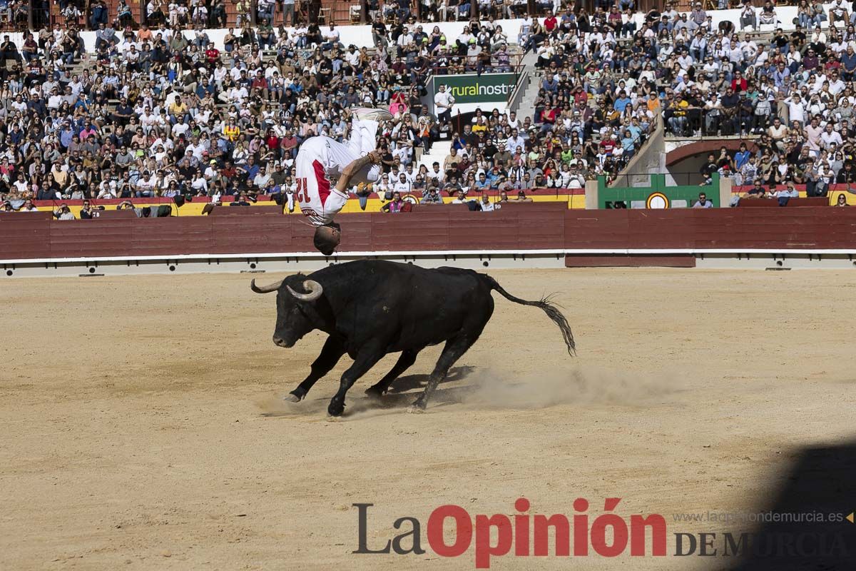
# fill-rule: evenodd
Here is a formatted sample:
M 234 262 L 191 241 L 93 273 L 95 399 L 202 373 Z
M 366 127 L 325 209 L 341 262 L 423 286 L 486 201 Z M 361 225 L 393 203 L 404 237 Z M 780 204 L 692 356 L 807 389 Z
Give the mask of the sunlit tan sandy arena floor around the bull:
M 514 514 L 752 509 L 795 450 L 853 435 L 852 272 L 494 271 L 558 300 L 577 336 L 498 294 L 484 336 L 425 414 L 407 414 L 440 348 L 377 407 L 343 359 L 299 405 L 321 347 L 270 342 L 271 295 L 240 275 L 9 280 L 0 384 L 0 569 L 452 569 L 473 551 L 360 556 L 395 518 L 443 503 Z M 266 275 L 269 283 L 280 276 Z M 694 530 L 698 531 L 698 530 Z M 669 548 L 671 549 L 671 547 Z M 690 561 L 690 560 L 693 561 Z M 698 557 L 575 558 L 574 568 L 702 568 Z M 495 558 L 498 569 L 569 568 Z

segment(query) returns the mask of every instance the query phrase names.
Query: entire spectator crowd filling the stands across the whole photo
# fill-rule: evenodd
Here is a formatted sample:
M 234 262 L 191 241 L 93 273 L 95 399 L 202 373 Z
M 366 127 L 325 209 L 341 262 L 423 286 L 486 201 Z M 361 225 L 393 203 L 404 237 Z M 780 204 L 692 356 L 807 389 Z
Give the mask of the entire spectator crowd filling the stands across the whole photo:
M 544 15 L 523 13 L 520 29 L 508 31 L 495 15 L 520 14 L 524 4 L 501 3 L 455 37 L 415 21 L 410 3 L 369 3 L 375 45 L 356 46 L 343 45 L 332 22 L 275 29 L 278 3 L 239 0 L 244 17 L 220 51 L 205 28 L 222 23 L 222 2 L 155 1 L 149 23 L 138 25 L 128 3 L 110 14 L 96 2 L 77 15 L 68 0 L 65 24 L 27 33 L 22 45 L 0 42 L 0 194 L 13 209 L 27 199 L 239 193 L 293 207 L 300 142 L 347 137 L 349 109 L 372 105 L 389 106 L 395 119 L 378 134 L 383 179 L 353 189 L 363 205 L 371 192 L 431 202 L 437 193 L 584 187 L 621 170 L 660 116 L 681 136 L 763 134 L 758 172 L 744 172 L 746 162 L 725 175 L 828 183 L 849 176 L 841 165 L 856 130 L 856 15 L 835 1 L 844 8 L 829 13 L 803 2 L 796 31 L 777 30 L 769 44 L 731 21 L 714 27 L 700 3 L 689 14 L 666 3 L 639 27 L 631 0 L 597 2 L 591 13 L 538 3 Z M 425 5 L 469 10 L 463 0 Z M 252 6 L 259 13 L 250 18 Z M 741 28 L 776 25 L 772 4 L 752 10 Z M 835 27 L 823 31 L 826 20 Z M 96 30 L 91 45 L 79 24 Z M 535 52 L 543 73 L 534 116 L 479 111 L 461 121 L 445 90 L 436 115 L 423 104 L 431 73 L 508 71 L 515 43 Z M 419 150 L 437 140 L 452 141 L 449 157 L 420 165 Z

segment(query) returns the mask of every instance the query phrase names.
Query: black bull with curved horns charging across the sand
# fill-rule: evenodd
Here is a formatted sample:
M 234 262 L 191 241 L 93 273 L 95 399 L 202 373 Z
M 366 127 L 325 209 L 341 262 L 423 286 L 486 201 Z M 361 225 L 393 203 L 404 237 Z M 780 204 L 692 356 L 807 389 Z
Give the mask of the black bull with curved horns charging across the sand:
M 548 299 L 527 301 L 514 297 L 492 277 L 472 270 L 419 266 L 381 260 L 358 260 L 330 265 L 311 276 L 289 276 L 259 288 L 257 294 L 276 291 L 276 329 L 273 342 L 292 347 L 312 330 L 327 333 L 327 341 L 312 372 L 292 390 L 289 401 L 300 401 L 319 378 L 336 366 L 343 354 L 354 364 L 342 373 L 328 412 L 342 414 L 348 389 L 385 354 L 401 351 L 386 376 L 366 393 L 382 396 L 402 372 L 412 366 L 419 351 L 446 342 L 428 386 L 411 410 L 425 409 L 431 393 L 449 368 L 479 339 L 493 314 L 491 290 L 507 300 L 540 307 L 562 330 L 568 354 L 574 354 L 574 335 L 568 320 Z

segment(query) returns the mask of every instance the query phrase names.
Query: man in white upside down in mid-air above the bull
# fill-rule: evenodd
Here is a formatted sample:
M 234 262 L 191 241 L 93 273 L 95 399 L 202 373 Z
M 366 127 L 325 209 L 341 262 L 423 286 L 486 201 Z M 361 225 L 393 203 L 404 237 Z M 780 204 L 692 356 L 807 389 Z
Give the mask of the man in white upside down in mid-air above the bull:
M 325 256 L 333 253 L 342 240 L 342 230 L 333 217 L 348 201 L 348 187 L 380 178 L 377 128 L 379 122 L 392 119 L 392 114 L 359 108 L 352 111 L 352 117 L 346 142 L 323 135 L 311 137 L 300 145 L 294 160 L 300 211 L 315 225 L 314 244 Z

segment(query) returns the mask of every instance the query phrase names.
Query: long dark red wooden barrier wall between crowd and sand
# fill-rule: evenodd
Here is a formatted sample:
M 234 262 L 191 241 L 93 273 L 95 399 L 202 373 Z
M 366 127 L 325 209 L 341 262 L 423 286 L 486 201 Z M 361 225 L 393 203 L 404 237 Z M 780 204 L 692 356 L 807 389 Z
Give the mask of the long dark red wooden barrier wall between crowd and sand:
M 856 208 L 722 208 L 580 211 L 554 203 L 495 212 L 417 207 L 410 213 L 343 214 L 341 252 L 782 248 L 856 249 Z M 0 259 L 314 252 L 300 216 L 57 221 L 0 216 Z M 245 214 L 241 215 L 240 212 Z

